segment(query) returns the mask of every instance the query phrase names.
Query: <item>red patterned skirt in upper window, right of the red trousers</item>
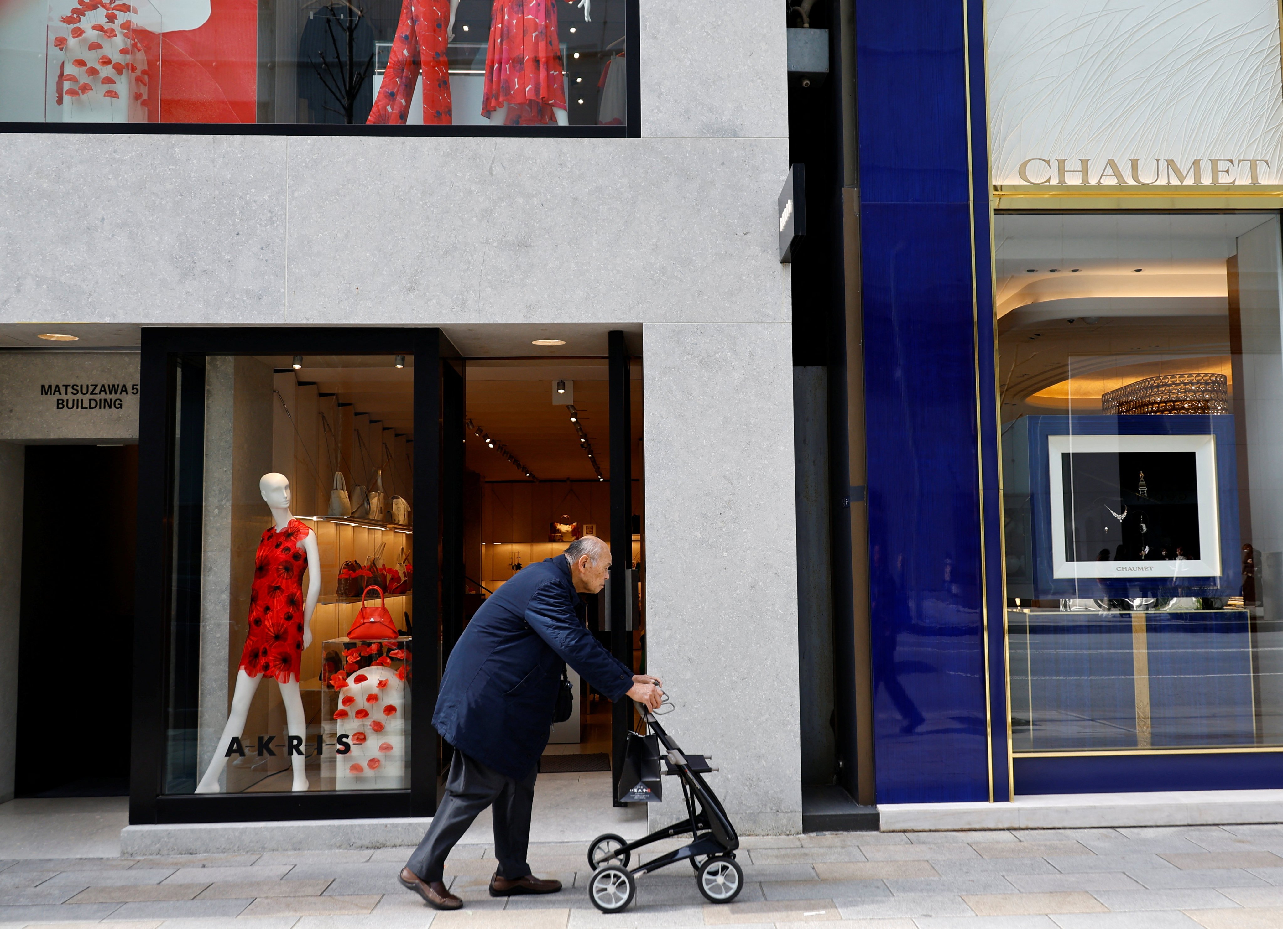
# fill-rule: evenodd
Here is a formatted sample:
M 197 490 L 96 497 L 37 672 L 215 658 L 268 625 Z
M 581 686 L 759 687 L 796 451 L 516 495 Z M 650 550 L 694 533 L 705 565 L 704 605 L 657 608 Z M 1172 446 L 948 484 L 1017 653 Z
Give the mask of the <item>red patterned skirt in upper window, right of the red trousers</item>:
M 494 0 L 481 115 L 508 107 L 508 126 L 556 122 L 566 109 L 557 0 Z

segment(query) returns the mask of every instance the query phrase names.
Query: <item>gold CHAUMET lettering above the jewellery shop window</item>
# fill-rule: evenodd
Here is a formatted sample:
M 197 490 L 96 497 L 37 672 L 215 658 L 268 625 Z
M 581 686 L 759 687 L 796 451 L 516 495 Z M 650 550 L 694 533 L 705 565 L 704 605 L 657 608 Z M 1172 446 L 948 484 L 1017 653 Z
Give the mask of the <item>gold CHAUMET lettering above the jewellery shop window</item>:
M 1261 183 L 1268 158 L 1194 158 L 1183 166 L 1174 158 L 1026 158 L 1016 173 L 1024 183 L 1148 187 Z

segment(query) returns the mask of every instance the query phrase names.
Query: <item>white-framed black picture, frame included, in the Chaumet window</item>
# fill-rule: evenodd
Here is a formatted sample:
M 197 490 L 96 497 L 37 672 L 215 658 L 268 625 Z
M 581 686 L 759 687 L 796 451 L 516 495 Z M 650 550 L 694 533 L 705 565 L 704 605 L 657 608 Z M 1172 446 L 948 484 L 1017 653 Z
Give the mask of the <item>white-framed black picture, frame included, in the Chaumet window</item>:
M 1215 435 L 1048 435 L 1053 577 L 1220 575 Z

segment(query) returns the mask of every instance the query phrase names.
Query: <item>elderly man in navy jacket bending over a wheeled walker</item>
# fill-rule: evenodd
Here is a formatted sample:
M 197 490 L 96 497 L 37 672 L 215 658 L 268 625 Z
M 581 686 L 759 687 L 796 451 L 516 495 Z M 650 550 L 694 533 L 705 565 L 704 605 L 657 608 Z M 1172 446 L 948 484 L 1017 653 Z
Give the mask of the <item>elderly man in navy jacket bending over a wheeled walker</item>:
M 445 856 L 491 805 L 499 869 L 490 896 L 561 889 L 561 882 L 530 873 L 526 847 L 539 756 L 567 663 L 611 701 L 630 697 L 658 708 L 659 680 L 634 675 L 575 616 L 579 594 L 599 592 L 609 567 L 604 541 L 593 535 L 572 541 L 563 556 L 530 565 L 506 581 L 450 652 L 432 725 L 454 746 L 454 760 L 432 825 L 399 875 L 430 906 L 463 906 L 443 883 Z

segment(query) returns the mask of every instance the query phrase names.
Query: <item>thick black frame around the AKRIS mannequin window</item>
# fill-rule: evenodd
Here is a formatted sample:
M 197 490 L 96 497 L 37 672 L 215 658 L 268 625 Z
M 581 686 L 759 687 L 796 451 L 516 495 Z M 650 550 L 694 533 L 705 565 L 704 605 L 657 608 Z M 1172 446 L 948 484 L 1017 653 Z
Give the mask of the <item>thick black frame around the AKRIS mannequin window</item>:
M 145 327 L 141 339 L 139 411 L 137 594 L 131 703 L 130 824 L 235 822 L 250 820 L 372 819 L 431 816 L 436 811 L 440 739 L 430 707 L 439 685 L 443 547 L 449 499 L 443 493 L 443 435 L 448 414 L 443 371 L 459 354 L 435 327 Z M 416 553 L 416 674 L 411 720 L 411 787 L 402 790 L 317 790 L 300 793 L 166 794 L 169 616 L 173 563 L 176 412 L 182 402 L 177 368 L 182 357 L 210 354 L 407 354 L 414 358 L 416 525 L 438 527 L 435 540 Z M 446 463 L 449 467 L 449 463 Z M 445 547 L 446 549 L 449 547 Z M 450 565 L 444 566 L 452 571 Z M 449 588 L 449 585 L 444 585 Z M 436 592 L 436 595 L 432 595 Z

